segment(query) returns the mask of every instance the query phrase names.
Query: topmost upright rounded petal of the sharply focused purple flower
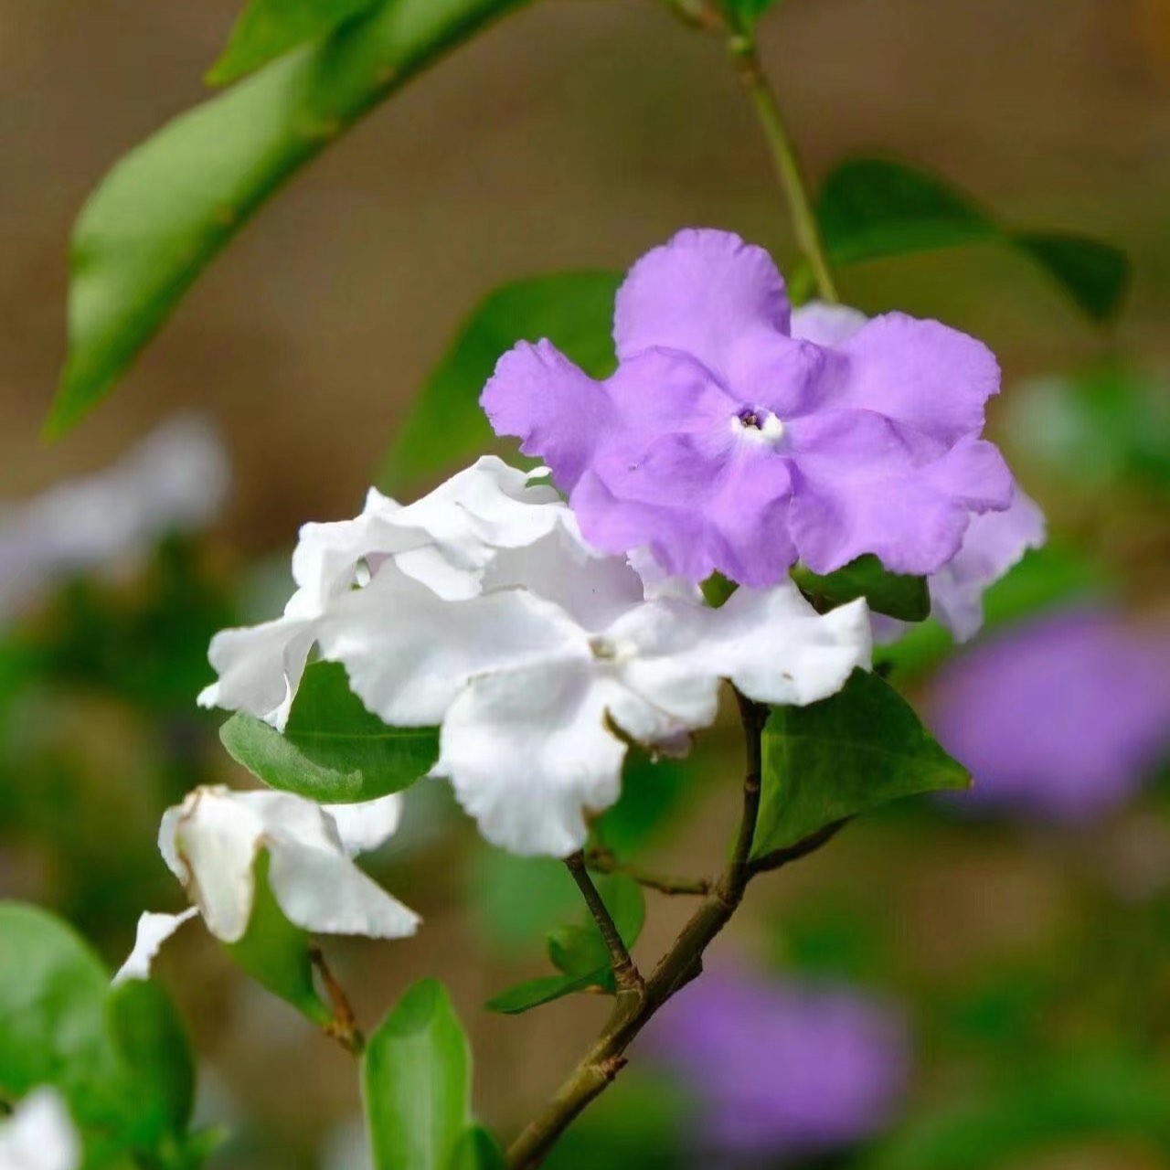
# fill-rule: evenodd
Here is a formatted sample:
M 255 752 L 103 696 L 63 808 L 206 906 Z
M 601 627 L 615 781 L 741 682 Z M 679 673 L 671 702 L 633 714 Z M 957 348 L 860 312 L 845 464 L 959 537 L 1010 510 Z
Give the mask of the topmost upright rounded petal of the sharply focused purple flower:
M 789 316 L 784 278 L 763 248 L 691 228 L 629 270 L 613 337 L 621 360 L 654 346 L 681 350 L 727 385 L 735 347 L 756 333 L 786 333 Z

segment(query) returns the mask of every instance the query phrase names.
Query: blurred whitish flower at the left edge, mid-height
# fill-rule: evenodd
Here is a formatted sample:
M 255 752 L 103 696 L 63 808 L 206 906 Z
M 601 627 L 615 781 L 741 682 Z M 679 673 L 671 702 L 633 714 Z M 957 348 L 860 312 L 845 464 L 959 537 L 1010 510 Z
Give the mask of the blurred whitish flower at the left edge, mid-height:
M 227 495 L 227 456 L 199 418 L 164 424 L 111 467 L 0 505 L 0 618 L 53 581 L 198 529 Z

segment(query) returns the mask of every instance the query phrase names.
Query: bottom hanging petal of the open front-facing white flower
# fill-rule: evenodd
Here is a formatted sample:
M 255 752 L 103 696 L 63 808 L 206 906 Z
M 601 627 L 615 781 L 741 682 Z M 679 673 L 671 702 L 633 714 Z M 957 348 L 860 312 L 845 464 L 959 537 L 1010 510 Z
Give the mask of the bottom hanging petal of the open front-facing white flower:
M 495 845 L 565 856 L 585 814 L 618 799 L 626 745 L 606 725 L 618 690 L 589 660 L 475 679 L 443 722 L 434 775 Z

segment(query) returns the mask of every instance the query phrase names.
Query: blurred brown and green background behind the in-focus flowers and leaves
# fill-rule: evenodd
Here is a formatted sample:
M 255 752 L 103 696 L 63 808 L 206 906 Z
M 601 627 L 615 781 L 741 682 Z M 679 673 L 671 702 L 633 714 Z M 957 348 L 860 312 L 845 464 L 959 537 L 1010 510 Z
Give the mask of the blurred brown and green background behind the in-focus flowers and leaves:
M 111 964 L 139 910 L 181 903 L 163 808 L 247 783 L 193 703 L 211 634 L 280 607 L 301 522 L 359 510 L 469 310 L 514 277 L 624 268 L 688 225 L 794 255 L 718 46 L 652 0 L 550 0 L 310 167 L 44 446 L 73 220 L 204 96 L 238 7 L 0 0 L 0 896 L 60 910 Z M 814 180 L 892 154 L 1012 222 L 1124 248 L 1135 280 L 1100 326 L 994 248 L 841 275 L 852 304 L 997 351 L 992 431 L 1049 517 L 977 644 L 924 629 L 890 656 L 976 792 L 894 806 L 755 886 L 711 956 L 722 994 L 696 985 L 662 1014 L 556 1164 L 1170 1165 L 1170 0 L 787 0 L 760 39 Z M 686 765 L 635 764 L 607 840 L 714 872 L 737 752 L 716 729 Z M 427 924 L 330 949 L 359 1014 L 442 978 L 479 1110 L 512 1131 L 607 1010 L 482 1010 L 546 970 L 571 883 L 479 844 L 439 785 L 412 790 L 371 865 Z M 686 911 L 651 894 L 639 955 Z M 160 969 L 205 1115 L 235 1133 L 215 1164 L 362 1164 L 344 1053 L 198 932 Z

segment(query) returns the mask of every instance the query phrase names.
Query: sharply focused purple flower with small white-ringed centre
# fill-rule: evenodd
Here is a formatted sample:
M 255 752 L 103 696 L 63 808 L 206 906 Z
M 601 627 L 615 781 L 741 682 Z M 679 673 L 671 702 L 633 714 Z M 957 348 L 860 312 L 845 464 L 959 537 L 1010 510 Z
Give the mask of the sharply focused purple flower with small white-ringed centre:
M 771 257 L 737 235 L 680 232 L 638 261 L 614 339 L 604 381 L 521 343 L 482 398 L 599 549 L 647 545 L 680 577 L 757 587 L 798 558 L 831 572 L 865 552 L 929 573 L 972 512 L 1011 500 L 978 438 L 999 388 L 986 346 L 896 312 L 793 315 Z

